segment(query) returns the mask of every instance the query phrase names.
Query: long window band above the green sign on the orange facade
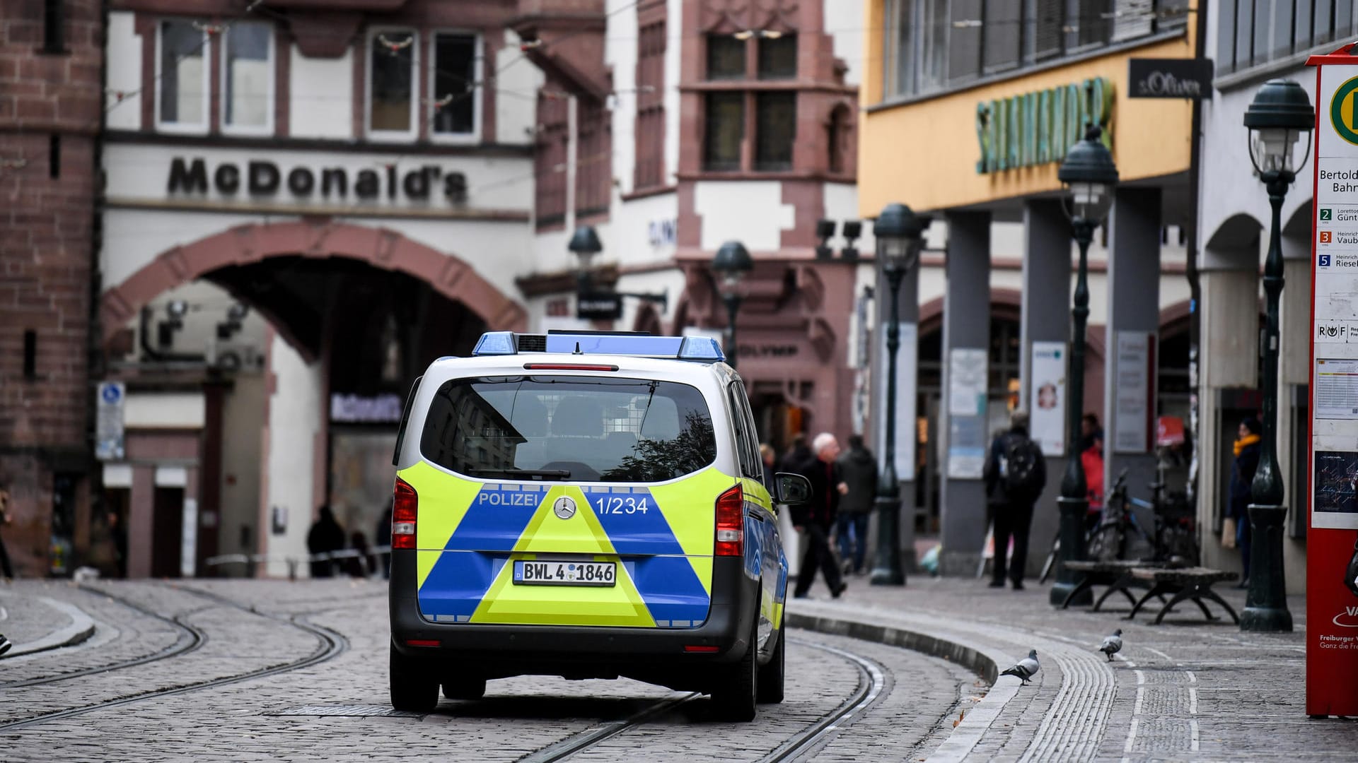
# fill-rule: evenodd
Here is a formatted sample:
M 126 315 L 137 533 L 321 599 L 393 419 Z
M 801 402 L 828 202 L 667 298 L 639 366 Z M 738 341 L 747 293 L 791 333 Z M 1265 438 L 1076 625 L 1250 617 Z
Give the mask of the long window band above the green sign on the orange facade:
M 1109 42 L 1181 31 L 1187 18 L 1188 0 L 887 0 L 884 92 L 941 92 Z

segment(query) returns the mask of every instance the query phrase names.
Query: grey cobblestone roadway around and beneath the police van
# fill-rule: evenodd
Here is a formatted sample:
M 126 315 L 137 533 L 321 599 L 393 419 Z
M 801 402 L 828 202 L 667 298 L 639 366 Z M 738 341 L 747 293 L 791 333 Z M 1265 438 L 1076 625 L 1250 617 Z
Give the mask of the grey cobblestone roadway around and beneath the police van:
M 444 699 L 422 718 L 392 715 L 382 582 L 22 582 L 7 593 L 7 601 L 72 604 L 96 627 L 77 646 L 0 661 L 5 760 L 516 760 L 687 696 L 630 680 L 517 677 L 492 682 L 478 702 Z M 299 626 L 323 629 L 334 644 Z M 865 710 L 801 751 L 818 759 L 933 748 L 952 730 L 959 702 L 982 691 L 976 676 L 918 652 L 807 631 L 792 639 L 788 696 L 762 706 L 754 724 L 710 721 L 708 701 L 697 698 L 574 758 L 763 759 L 860 691 L 864 676 L 843 653 L 876 665 L 881 683 Z M 318 654 L 329 658 L 210 683 Z M 128 661 L 140 664 L 115 667 Z M 164 694 L 177 687 L 185 688 Z

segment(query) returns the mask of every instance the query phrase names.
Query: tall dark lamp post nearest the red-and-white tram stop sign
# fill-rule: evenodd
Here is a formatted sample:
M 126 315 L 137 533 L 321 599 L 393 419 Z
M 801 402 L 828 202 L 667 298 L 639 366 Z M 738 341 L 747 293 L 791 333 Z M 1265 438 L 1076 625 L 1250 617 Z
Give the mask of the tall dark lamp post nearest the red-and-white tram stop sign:
M 1282 567 L 1282 525 L 1287 508 L 1282 505 L 1282 470 L 1278 468 L 1278 299 L 1282 296 L 1282 198 L 1297 179 L 1297 170 L 1310 155 L 1310 130 L 1316 113 L 1306 91 L 1290 80 L 1268 80 L 1255 94 L 1245 110 L 1249 128 L 1249 160 L 1268 190 L 1272 227 L 1268 231 L 1268 257 L 1264 259 L 1264 295 L 1268 299 L 1268 324 L 1263 337 L 1264 358 L 1264 426 L 1259 444 L 1259 468 L 1249 485 L 1249 527 L 1253 544 L 1249 550 L 1249 591 L 1245 611 L 1240 614 L 1243 631 L 1290 631 L 1287 587 Z M 1294 164 L 1294 149 L 1306 133 L 1301 166 Z

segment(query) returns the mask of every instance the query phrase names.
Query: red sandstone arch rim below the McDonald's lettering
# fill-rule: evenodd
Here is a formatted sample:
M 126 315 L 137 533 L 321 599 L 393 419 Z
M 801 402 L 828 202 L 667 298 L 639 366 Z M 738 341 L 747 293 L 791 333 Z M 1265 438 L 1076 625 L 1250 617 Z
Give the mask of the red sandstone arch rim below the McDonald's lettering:
M 523 331 L 528 314 L 462 259 L 413 242 L 386 228 L 348 223 L 292 221 L 249 224 L 160 253 L 99 300 L 107 342 L 156 295 L 219 267 L 249 265 L 270 257 L 331 257 L 357 259 L 383 270 L 398 270 L 459 301 L 496 330 Z

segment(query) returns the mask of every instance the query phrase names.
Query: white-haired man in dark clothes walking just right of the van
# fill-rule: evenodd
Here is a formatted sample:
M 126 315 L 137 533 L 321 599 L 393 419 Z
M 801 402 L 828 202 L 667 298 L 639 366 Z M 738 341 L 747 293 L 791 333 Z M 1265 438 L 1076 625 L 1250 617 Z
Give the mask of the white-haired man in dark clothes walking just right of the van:
M 839 478 L 835 458 L 839 456 L 839 441 L 828 432 L 816 434 L 811 448 L 815 456 L 797 470 L 811 482 L 811 501 L 792 508 L 792 524 L 803 532 L 807 540 L 807 554 L 801 557 L 797 570 L 797 588 L 793 596 L 805 599 L 816 578 L 816 567 L 826 576 L 830 595 L 838 599 L 847 588 L 835 565 L 835 553 L 830 548 L 830 528 L 835 521 L 839 498 L 849 486 Z

